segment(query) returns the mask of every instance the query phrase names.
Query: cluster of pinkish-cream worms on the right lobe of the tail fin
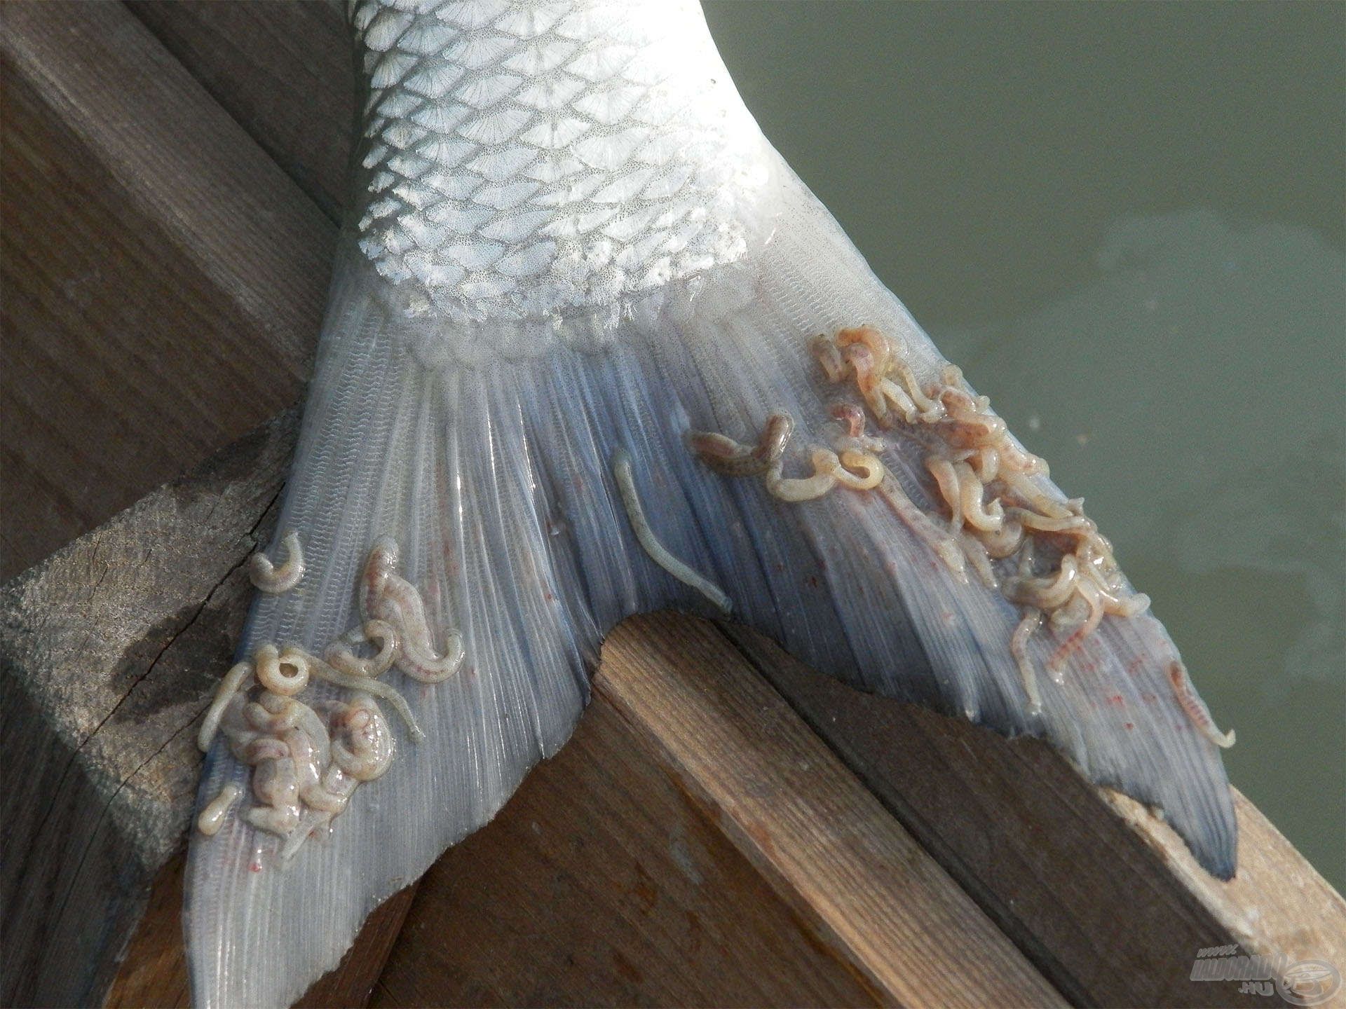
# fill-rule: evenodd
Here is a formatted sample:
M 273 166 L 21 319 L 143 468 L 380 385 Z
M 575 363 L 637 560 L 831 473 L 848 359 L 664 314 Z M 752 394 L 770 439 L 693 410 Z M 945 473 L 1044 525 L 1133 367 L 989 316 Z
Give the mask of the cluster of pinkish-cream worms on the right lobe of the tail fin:
M 830 448 L 810 449 L 812 474 L 783 475 L 782 457 L 794 428 L 785 413 L 767 418 L 755 445 L 693 432 L 692 449 L 721 474 L 759 476 L 770 494 L 787 502 L 821 498 L 836 487 L 879 494 L 957 578 L 966 581 L 970 568 L 1019 607 L 1010 650 L 1028 704 L 1040 712 L 1042 694 L 1028 655 L 1032 635 L 1044 623 L 1058 634 L 1047 670 L 1059 683 L 1067 661 L 1105 615 L 1136 616 L 1149 599 L 1129 589 L 1112 545 L 1084 514 L 1084 500 L 1047 492 L 1047 463 L 1010 436 L 989 400 L 973 394 L 960 369 L 945 363 L 935 381 L 922 383 L 906 347 L 870 326 L 843 328 L 835 336 L 820 334 L 810 348 L 826 379 L 853 383 L 863 402 L 832 405 L 840 433 Z M 913 502 L 883 464 L 887 445 L 865 433 L 868 417 L 883 429 L 900 428 L 905 439 L 919 445 L 935 514 Z M 1191 702 L 1201 702 L 1186 675 L 1171 681 L 1194 725 L 1217 745 L 1229 745 L 1232 737 L 1215 731 L 1209 713 L 1194 713 Z

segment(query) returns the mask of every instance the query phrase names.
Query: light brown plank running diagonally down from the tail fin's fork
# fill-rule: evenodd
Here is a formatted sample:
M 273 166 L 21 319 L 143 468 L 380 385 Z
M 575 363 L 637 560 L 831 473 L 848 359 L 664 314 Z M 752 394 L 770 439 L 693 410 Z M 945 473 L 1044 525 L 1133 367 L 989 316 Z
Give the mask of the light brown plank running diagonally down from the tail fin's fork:
M 646 616 L 615 628 L 603 655 L 598 692 L 884 1001 L 1059 1004 L 719 630 Z

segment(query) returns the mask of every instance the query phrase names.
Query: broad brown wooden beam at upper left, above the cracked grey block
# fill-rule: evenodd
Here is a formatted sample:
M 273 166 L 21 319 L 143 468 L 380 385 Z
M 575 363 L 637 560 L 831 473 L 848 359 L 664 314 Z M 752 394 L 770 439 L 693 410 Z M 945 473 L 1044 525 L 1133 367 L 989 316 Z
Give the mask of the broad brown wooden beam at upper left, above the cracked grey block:
M 122 5 L 0 19 L 8 577 L 297 398 L 335 229 Z

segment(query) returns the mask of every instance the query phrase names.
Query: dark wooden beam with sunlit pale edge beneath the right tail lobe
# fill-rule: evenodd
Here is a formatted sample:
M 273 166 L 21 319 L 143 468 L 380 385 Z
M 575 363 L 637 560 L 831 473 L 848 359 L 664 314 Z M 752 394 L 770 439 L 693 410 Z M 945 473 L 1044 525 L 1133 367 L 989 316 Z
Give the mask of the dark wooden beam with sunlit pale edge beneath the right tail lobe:
M 860 694 L 725 631 L 1073 1002 L 1228 1005 L 1238 982 L 1190 974 L 1198 950 L 1232 943 L 1346 965 L 1346 903 L 1242 795 L 1238 874 L 1221 883 L 1040 741 Z

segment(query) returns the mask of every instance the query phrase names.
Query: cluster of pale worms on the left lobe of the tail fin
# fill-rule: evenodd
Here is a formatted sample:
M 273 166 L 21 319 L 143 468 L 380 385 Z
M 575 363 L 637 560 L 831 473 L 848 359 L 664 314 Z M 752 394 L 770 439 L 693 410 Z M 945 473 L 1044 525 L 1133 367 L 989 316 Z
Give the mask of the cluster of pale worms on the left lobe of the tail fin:
M 303 578 L 299 537 L 291 533 L 281 542 L 284 564 L 262 553 L 249 562 L 252 583 L 262 592 L 288 592 Z M 435 651 L 420 592 L 397 566 L 396 542 L 380 538 L 359 580 L 358 628 L 328 644 L 322 658 L 296 644 L 258 646 L 225 674 L 206 710 L 198 745 L 206 751 L 223 733 L 234 757 L 252 768 L 256 805 L 242 817 L 283 839 L 281 858 L 339 815 L 359 784 L 388 771 L 396 747 L 378 700 L 393 708 L 413 741 L 424 739 L 406 698 L 380 677 L 396 667 L 412 679 L 437 683 L 463 663 L 458 631 L 448 632 L 443 654 Z M 362 655 L 362 648 L 373 654 Z M 300 700 L 319 681 L 349 694 L 312 704 Z M 218 833 L 241 794 L 237 784 L 226 784 L 201 811 L 198 829 Z

